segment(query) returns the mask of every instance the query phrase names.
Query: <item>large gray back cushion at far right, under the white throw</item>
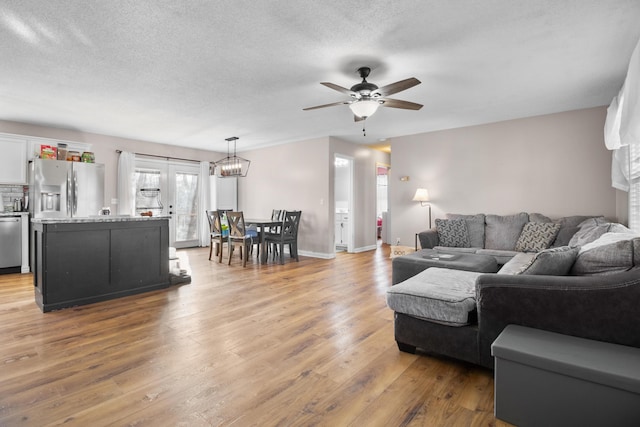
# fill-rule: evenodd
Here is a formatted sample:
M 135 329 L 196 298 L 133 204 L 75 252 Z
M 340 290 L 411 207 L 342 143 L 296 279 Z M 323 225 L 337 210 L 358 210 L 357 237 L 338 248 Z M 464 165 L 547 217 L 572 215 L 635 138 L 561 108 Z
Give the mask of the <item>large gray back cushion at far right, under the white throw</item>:
M 632 269 L 636 234 L 605 233 L 580 248 L 571 274 L 596 276 L 614 274 Z

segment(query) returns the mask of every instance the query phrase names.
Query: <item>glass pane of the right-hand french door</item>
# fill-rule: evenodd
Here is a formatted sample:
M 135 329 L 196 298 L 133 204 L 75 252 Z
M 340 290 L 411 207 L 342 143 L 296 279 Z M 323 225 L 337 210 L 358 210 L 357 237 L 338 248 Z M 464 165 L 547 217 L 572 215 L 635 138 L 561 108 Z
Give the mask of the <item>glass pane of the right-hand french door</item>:
M 176 241 L 198 239 L 198 174 L 176 172 Z

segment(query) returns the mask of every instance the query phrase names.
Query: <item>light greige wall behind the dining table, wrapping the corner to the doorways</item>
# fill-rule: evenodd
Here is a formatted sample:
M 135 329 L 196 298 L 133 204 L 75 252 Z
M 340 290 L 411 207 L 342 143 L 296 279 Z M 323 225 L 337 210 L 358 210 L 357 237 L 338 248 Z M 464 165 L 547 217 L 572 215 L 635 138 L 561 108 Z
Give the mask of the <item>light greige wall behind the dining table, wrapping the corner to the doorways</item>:
M 389 155 L 332 137 L 250 150 L 246 178 L 239 181 L 239 209 L 247 217 L 269 217 L 272 209 L 302 210 L 301 253 L 335 256 L 335 154 L 354 159 L 354 251 L 376 245 L 376 162 Z

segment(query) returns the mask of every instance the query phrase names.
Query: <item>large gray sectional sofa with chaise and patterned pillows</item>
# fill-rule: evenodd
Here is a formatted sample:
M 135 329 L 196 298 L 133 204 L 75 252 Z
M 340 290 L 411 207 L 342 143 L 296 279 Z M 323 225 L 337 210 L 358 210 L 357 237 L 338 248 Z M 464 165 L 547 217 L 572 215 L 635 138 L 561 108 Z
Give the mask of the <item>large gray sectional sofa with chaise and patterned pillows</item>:
M 591 216 L 446 220 L 420 233 L 423 248 L 490 255 L 500 270 L 416 274 L 411 265 L 408 274 L 404 257 L 395 258 L 387 304 L 400 350 L 493 368 L 491 343 L 508 324 L 640 347 L 640 235 Z

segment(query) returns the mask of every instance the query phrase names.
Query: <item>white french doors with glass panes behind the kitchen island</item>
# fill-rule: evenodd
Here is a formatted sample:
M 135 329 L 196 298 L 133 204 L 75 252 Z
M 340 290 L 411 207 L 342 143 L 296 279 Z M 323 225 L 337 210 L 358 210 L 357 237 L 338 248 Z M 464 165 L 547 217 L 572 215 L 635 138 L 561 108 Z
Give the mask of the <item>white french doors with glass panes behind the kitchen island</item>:
M 196 164 L 136 159 L 136 214 L 168 215 L 173 247 L 199 245 L 199 174 Z

